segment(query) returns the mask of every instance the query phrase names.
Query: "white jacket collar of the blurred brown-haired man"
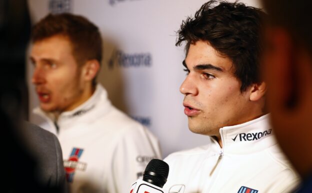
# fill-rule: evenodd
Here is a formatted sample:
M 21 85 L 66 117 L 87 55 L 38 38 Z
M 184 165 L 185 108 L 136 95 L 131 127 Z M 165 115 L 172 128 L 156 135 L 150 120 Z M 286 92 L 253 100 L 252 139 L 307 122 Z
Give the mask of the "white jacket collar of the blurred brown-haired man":
M 97 84 L 92 96 L 75 109 L 62 112 L 58 116 L 57 124 L 62 128 L 64 125 L 72 123 L 72 121 L 90 123 L 96 120 L 98 116 L 104 116 L 109 112 L 110 108 L 111 104 L 107 98 L 106 90 L 100 84 Z M 33 113 L 47 121 L 54 122 L 53 114 L 44 112 L 40 107 L 34 108 Z

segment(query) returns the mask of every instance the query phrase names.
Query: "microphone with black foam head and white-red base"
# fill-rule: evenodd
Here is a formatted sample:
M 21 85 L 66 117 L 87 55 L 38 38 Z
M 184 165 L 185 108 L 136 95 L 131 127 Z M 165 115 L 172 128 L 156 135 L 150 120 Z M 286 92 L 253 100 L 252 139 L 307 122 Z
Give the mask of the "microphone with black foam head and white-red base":
M 152 159 L 147 164 L 143 180 L 137 179 L 130 188 L 130 193 L 163 193 L 162 187 L 167 181 L 169 165 L 160 160 Z

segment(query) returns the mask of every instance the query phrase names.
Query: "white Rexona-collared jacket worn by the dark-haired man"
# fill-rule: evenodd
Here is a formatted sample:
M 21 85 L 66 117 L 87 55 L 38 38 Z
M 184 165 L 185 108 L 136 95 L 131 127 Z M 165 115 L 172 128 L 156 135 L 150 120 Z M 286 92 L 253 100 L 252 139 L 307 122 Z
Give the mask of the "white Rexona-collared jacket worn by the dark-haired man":
M 206 146 L 164 159 L 169 164 L 164 193 L 279 193 L 299 182 L 276 144 L 268 115 L 219 132 L 222 148 L 210 137 Z

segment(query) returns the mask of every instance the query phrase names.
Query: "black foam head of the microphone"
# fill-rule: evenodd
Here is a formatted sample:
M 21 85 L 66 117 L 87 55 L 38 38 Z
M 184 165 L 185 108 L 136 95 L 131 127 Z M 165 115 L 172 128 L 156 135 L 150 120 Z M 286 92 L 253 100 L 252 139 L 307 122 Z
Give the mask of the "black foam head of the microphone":
M 143 181 L 163 187 L 167 181 L 168 173 L 169 165 L 166 162 L 160 159 L 152 159 L 145 168 Z

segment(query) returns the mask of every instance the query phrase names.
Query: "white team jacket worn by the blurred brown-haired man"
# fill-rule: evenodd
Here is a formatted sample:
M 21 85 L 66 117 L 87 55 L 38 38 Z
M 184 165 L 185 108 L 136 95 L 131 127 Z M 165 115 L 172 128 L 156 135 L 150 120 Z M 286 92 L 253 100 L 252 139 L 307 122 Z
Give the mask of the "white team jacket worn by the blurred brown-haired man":
M 160 158 L 158 140 L 142 125 L 113 107 L 101 85 L 76 109 L 63 112 L 59 132 L 46 119 L 40 126 L 57 135 L 71 192 L 128 192 L 152 158 Z

